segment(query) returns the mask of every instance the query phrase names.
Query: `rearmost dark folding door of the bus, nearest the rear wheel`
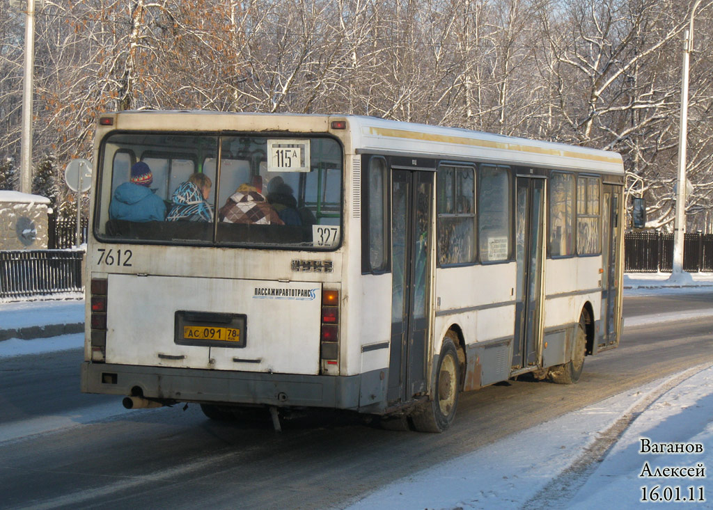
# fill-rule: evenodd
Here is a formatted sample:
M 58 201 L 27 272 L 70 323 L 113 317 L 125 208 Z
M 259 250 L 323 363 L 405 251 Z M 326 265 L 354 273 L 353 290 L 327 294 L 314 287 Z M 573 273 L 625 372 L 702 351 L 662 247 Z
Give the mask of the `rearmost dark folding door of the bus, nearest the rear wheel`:
M 433 189 L 433 172 L 393 170 L 389 402 L 427 390 Z

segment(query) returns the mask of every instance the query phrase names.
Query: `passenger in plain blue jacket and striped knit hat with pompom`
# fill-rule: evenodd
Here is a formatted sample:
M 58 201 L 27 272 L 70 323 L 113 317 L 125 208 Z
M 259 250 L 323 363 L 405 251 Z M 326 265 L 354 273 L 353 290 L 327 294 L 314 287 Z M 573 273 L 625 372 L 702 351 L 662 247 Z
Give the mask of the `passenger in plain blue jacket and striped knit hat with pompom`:
M 166 204 L 150 189 L 153 174 L 143 161 L 131 167 L 130 182 L 124 182 L 114 190 L 109 205 L 111 219 L 125 219 L 128 222 L 163 222 Z

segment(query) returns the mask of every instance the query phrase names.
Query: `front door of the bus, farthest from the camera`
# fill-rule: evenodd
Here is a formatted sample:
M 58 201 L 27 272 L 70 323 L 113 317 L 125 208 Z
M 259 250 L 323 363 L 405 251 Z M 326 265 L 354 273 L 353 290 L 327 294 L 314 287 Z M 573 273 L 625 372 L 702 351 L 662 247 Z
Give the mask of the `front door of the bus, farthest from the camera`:
M 617 257 L 620 241 L 619 207 L 621 204 L 621 187 L 604 184 L 603 193 L 603 224 L 602 232 L 602 338 L 599 347 L 617 343 L 617 316 L 619 310 L 619 285 L 617 268 L 620 260 Z

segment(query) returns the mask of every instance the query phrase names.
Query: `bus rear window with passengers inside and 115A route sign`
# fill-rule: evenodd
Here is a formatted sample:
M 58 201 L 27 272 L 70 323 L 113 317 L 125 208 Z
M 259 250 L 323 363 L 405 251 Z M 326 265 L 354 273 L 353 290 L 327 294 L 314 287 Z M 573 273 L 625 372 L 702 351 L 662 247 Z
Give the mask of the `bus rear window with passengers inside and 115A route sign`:
M 94 232 L 103 241 L 334 249 L 342 160 L 326 137 L 115 133 L 101 145 Z

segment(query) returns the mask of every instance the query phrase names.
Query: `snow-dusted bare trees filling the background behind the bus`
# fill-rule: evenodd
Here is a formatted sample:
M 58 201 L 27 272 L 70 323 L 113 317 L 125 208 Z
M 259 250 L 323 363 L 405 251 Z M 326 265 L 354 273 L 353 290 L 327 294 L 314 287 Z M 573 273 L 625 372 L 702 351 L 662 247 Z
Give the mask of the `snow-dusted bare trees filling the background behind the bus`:
M 90 157 L 108 110 L 378 115 L 616 150 L 627 192 L 643 194 L 650 224 L 667 229 L 689 9 L 677 0 L 48 1 L 36 16 L 34 161 Z M 23 29 L 0 3 L 0 157 L 19 154 Z M 701 2 L 695 33 L 692 225 L 713 221 L 713 0 Z

